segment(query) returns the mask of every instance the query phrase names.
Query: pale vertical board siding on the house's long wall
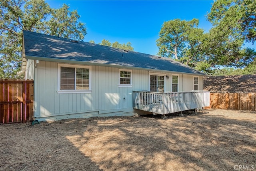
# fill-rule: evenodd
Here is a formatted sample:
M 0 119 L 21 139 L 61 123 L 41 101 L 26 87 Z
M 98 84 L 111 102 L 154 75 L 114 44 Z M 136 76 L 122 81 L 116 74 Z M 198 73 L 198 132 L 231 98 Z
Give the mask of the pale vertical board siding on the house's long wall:
M 84 65 L 76 64 L 74 66 Z M 119 68 L 91 67 L 91 93 L 61 94 L 57 93 L 58 62 L 40 61 L 34 68 L 34 117 L 38 120 L 50 120 L 136 114 L 132 108 L 132 91 L 149 90 L 149 71 L 132 70 L 132 87 L 118 87 Z M 152 73 L 169 76 L 168 80 L 165 77 L 165 90 L 170 92 L 172 73 L 150 71 L 150 74 Z M 179 74 L 179 91 L 191 91 L 193 79 L 192 75 Z M 202 90 L 202 76 L 199 76 L 199 80 L 199 89 Z

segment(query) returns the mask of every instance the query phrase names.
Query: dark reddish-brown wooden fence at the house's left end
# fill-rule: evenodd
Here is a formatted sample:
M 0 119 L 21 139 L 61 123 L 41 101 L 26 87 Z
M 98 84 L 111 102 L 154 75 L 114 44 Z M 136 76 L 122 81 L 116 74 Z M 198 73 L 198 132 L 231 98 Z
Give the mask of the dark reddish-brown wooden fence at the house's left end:
M 0 123 L 33 120 L 33 80 L 0 80 Z

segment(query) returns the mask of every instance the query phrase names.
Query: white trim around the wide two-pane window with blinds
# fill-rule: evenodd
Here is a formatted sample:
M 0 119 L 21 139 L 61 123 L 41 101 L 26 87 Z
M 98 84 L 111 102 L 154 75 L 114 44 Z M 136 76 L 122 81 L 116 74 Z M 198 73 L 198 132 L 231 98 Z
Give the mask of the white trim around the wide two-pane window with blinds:
M 89 69 L 89 89 L 84 90 L 60 90 L 60 67 L 70 67 L 70 68 L 86 68 Z M 76 74 L 76 70 L 75 70 Z M 91 66 L 80 66 L 80 65 L 71 65 L 71 64 L 58 64 L 58 94 L 65 94 L 65 93 L 91 93 L 92 92 L 92 67 Z M 76 87 L 76 80 L 75 80 L 75 87 Z

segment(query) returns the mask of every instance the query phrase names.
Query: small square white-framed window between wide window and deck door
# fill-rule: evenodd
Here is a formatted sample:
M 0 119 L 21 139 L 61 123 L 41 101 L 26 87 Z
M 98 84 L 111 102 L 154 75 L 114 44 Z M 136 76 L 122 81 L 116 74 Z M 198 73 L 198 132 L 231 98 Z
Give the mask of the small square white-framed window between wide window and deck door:
M 132 70 L 119 69 L 118 87 L 132 87 Z

